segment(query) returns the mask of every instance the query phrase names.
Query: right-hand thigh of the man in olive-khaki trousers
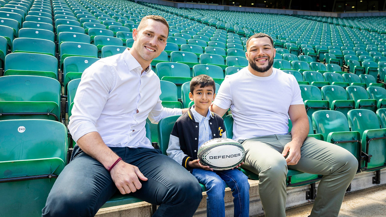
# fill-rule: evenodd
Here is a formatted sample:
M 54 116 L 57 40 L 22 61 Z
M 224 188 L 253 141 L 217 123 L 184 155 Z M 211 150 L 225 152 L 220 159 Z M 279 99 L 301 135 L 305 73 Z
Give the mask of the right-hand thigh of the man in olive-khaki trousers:
M 306 173 L 328 175 L 339 168 L 342 162 L 352 159 L 352 154 L 335 144 L 307 137 L 300 149 L 301 158 L 291 169 Z

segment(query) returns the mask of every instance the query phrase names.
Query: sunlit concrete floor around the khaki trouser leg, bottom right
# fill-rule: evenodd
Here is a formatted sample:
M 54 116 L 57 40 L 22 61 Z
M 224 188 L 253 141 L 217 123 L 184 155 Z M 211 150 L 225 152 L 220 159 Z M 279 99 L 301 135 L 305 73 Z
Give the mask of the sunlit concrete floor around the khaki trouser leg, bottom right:
M 287 217 L 307 217 L 313 203 L 286 210 Z M 255 217 L 263 217 L 257 215 Z M 385 217 L 386 185 L 376 186 L 346 194 L 339 217 Z

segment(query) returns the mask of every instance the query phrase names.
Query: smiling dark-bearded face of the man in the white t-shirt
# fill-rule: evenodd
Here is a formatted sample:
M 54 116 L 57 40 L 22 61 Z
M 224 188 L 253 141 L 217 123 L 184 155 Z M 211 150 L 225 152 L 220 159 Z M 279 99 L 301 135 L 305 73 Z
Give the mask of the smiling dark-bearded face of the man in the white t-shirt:
M 257 76 L 271 75 L 275 55 L 276 49 L 274 49 L 268 37 L 252 38 L 245 53 L 245 57 L 249 61 L 249 71 L 252 73 L 255 71 L 256 73 L 253 74 Z

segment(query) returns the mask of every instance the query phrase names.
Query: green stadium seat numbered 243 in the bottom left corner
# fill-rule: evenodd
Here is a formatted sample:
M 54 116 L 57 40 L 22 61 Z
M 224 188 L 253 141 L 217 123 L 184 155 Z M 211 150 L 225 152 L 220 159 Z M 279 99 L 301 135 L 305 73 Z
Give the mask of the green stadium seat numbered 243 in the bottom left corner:
M 2 120 L 1 126 L 2 214 L 40 216 L 67 162 L 67 129 L 52 120 Z

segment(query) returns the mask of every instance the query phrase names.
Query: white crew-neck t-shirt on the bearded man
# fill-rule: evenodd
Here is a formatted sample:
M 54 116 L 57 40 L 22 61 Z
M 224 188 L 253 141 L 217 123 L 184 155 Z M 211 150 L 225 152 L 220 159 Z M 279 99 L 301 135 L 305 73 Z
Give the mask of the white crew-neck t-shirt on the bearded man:
M 304 104 L 293 75 L 273 68 L 259 77 L 247 67 L 225 77 L 213 102 L 232 111 L 233 139 L 288 134 L 289 105 Z

